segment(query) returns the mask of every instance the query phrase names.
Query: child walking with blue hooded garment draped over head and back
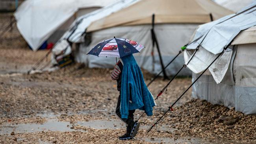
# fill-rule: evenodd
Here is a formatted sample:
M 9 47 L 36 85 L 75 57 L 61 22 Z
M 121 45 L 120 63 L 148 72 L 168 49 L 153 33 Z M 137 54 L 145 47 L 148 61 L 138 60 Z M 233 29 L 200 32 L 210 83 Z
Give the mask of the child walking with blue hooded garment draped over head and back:
M 132 54 L 122 57 L 114 68 L 111 79 L 117 80 L 117 90 L 120 92 L 116 114 L 126 123 L 126 133 L 119 139 L 128 140 L 134 138 L 139 129 L 139 123 L 134 122 L 135 109 L 144 110 L 151 116 L 152 107 L 156 104 Z

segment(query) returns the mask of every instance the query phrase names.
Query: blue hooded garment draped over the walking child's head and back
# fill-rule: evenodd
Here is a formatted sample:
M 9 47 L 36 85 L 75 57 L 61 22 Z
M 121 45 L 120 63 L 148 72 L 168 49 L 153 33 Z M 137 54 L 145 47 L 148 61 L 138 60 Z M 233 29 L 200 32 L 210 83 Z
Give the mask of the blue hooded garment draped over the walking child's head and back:
M 128 110 L 133 109 L 144 110 L 147 116 L 151 116 L 155 102 L 145 84 L 141 69 L 132 54 L 121 57 L 121 59 L 124 65 L 122 69 L 120 106 L 122 118 L 127 118 Z M 131 101 L 130 96 L 132 96 Z

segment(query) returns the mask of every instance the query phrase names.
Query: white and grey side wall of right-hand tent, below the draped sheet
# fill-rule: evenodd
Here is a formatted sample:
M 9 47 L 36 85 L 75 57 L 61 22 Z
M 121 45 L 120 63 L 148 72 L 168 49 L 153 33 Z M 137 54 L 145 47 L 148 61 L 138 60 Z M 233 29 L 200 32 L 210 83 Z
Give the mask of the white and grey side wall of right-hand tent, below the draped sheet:
M 239 37 L 239 35 L 237 36 Z M 233 47 L 233 46 L 232 46 Z M 238 44 L 233 48 L 230 65 L 221 83 L 211 75 L 202 75 L 192 87 L 192 96 L 235 107 L 245 114 L 256 113 L 256 43 Z M 199 74 L 193 73 L 192 81 Z

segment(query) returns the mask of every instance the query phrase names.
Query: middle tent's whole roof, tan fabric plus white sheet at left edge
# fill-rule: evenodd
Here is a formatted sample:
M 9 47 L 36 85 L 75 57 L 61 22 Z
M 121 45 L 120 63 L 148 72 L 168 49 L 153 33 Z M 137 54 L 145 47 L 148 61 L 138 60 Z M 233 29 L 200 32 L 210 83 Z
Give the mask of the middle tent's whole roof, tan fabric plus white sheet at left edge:
M 69 38 L 71 42 L 82 42 L 80 37 L 88 27 L 89 31 L 95 31 L 128 24 L 151 24 L 153 13 L 156 14 L 156 24 L 202 24 L 211 20 L 210 14 L 215 20 L 231 14 L 232 11 L 211 2 L 211 0 L 122 0 L 78 18 L 72 24 L 70 31 L 65 33 L 63 39 Z M 127 17 L 127 15 L 131 15 L 131 17 Z M 169 17 L 171 17 L 171 21 Z M 134 18 L 137 23 L 134 23 Z

